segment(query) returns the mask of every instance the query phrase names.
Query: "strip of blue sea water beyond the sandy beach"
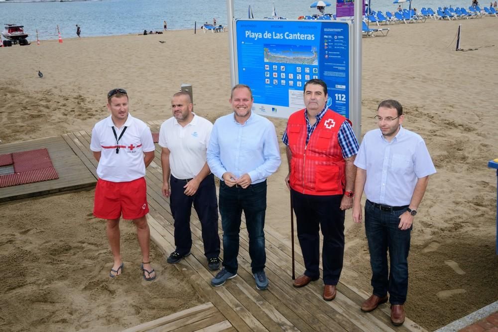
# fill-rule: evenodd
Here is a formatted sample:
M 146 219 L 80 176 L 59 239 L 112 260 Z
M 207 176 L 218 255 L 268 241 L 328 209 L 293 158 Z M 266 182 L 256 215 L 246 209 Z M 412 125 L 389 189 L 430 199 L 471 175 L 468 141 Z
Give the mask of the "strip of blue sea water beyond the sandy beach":
M 394 11 L 393 0 L 371 0 L 373 10 Z M 445 2 L 446 1 L 446 2 Z M 301 15 L 318 13 L 310 8 L 311 0 L 234 0 L 236 18 L 248 18 L 251 5 L 254 18 L 271 16 L 273 5 L 278 16 L 296 19 Z M 336 0 L 327 13 L 335 13 Z M 468 7 L 470 0 L 412 0 L 412 7 L 438 6 Z M 489 6 L 485 1 L 481 6 Z M 408 8 L 408 2 L 402 4 Z M 226 0 L 100 0 L 64 2 L 11 2 L 0 0 L 0 24 L 24 25 L 28 40 L 57 39 L 57 25 L 63 38 L 76 37 L 76 24 L 81 26 L 81 36 L 107 36 L 138 34 L 143 30 L 161 31 L 163 20 L 168 30 L 197 28 L 204 22 L 227 24 Z M 2 29 L 2 26 L 0 27 Z

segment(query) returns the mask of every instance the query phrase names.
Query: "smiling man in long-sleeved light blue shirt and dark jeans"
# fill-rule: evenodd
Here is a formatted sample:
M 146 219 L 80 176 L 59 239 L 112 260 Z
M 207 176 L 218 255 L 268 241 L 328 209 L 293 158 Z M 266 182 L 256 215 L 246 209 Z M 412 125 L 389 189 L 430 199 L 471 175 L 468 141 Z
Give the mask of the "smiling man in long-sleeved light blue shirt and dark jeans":
M 239 232 L 244 211 L 249 233 L 249 256 L 256 288 L 264 290 L 264 216 L 266 178 L 280 165 L 275 127 L 267 118 L 251 111 L 252 92 L 247 85 L 232 89 L 233 113 L 218 118 L 211 132 L 207 160 L 220 178 L 219 207 L 223 227 L 223 269 L 213 278 L 215 287 L 237 276 Z

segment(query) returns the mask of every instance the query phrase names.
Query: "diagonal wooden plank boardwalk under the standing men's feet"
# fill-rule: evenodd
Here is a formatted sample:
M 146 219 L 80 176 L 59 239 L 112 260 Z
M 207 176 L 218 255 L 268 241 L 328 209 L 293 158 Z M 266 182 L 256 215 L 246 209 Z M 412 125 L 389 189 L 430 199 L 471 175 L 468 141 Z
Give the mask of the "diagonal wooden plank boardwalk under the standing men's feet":
M 158 132 L 161 123 L 162 121 L 148 122 L 152 132 Z M 97 162 L 89 149 L 90 135 L 90 132 L 79 131 L 62 135 L 62 137 L 96 177 Z M 155 158 L 147 168 L 147 199 L 150 208 L 147 220 L 153 241 L 165 255 L 169 255 L 175 249 L 174 229 L 169 202 L 161 195 L 160 152 L 161 148 L 156 144 Z M 268 190 L 271 190 L 270 187 Z M 221 221 L 219 224 L 221 237 L 223 233 Z M 336 299 L 330 302 L 322 299 L 323 282 L 321 279 L 306 287 L 294 288 L 291 279 L 290 241 L 283 240 L 282 235 L 269 226 L 265 226 L 265 272 L 269 280 L 268 289 L 265 291 L 255 289 L 250 269 L 249 238 L 244 222 L 241 230 L 238 277 L 227 281 L 221 287 L 212 287 L 210 282 L 217 271 L 210 271 L 207 267 L 203 254 L 201 225 L 194 210 L 192 210 L 191 228 L 192 254 L 175 266 L 188 277 L 196 291 L 208 299 L 233 327 L 227 329 L 237 331 L 425 331 L 409 319 L 405 320 L 403 326 L 394 327 L 390 323 L 390 310 L 387 304 L 380 305 L 371 313 L 361 312 L 360 305 L 370 294 L 342 282 L 337 286 Z M 223 257 L 223 251 L 220 256 Z M 295 257 L 296 271 L 303 271 L 304 263 L 298 246 Z M 216 328 L 213 330 L 199 328 L 198 330 L 220 331 Z

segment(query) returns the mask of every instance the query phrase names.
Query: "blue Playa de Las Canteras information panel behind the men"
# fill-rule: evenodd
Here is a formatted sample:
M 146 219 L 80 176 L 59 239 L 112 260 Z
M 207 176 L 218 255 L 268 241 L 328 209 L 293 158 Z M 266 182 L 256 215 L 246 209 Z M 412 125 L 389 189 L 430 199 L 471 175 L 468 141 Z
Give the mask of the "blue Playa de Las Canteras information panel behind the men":
M 289 117 L 304 108 L 304 84 L 318 78 L 327 105 L 349 117 L 349 21 L 237 20 L 235 41 L 236 81 L 251 87 L 253 111 Z

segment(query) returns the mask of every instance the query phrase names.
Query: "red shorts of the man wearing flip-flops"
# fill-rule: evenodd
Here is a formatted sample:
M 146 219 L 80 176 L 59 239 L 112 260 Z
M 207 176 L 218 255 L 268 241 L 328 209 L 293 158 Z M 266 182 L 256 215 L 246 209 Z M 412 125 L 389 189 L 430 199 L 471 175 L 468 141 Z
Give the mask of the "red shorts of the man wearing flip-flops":
M 95 188 L 94 216 L 102 219 L 138 219 L 149 212 L 145 178 L 129 182 L 99 179 Z

